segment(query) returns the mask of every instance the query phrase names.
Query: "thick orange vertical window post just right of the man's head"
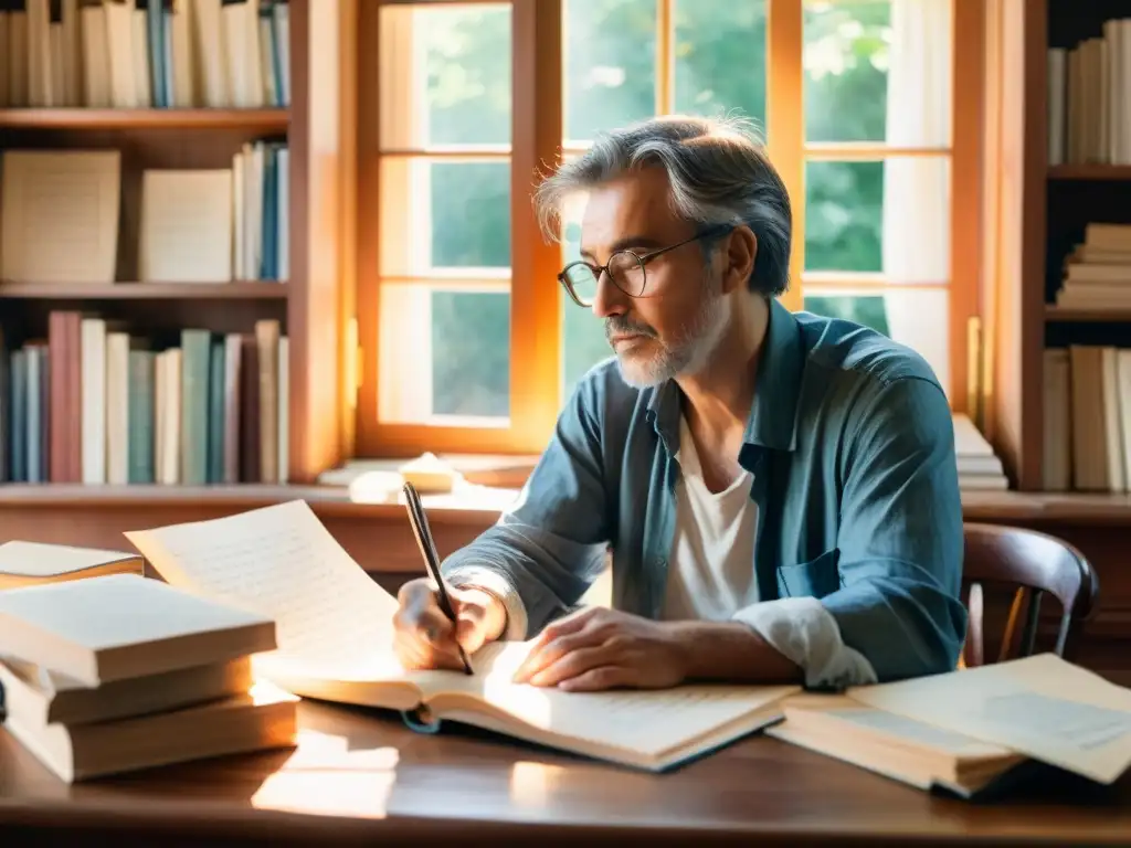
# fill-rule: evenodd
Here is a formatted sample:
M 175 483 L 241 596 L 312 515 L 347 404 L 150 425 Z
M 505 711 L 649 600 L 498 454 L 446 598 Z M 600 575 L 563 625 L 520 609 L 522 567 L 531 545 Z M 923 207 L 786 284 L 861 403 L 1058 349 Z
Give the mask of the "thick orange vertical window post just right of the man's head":
M 768 0 L 766 21 L 766 129 L 770 161 L 793 207 L 788 309 L 801 309 L 805 267 L 805 105 L 802 0 Z

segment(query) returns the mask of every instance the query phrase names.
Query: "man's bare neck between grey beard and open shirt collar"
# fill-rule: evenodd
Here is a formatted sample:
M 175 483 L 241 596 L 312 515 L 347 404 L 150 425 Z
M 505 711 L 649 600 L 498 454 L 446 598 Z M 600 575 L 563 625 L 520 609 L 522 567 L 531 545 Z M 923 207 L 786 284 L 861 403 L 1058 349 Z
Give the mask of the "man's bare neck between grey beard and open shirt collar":
M 710 434 L 711 441 L 745 429 L 768 327 L 769 303 L 758 296 L 740 298 L 707 364 L 696 374 L 676 379 L 688 423 L 700 434 Z

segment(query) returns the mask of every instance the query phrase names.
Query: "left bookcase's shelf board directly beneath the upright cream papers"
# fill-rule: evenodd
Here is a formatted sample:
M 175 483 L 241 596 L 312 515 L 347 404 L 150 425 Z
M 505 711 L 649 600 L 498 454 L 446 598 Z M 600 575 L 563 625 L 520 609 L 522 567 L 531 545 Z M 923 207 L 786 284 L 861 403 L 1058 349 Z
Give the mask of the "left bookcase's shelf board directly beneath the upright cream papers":
M 235 283 L 0 283 L 0 300 L 286 300 L 287 284 Z

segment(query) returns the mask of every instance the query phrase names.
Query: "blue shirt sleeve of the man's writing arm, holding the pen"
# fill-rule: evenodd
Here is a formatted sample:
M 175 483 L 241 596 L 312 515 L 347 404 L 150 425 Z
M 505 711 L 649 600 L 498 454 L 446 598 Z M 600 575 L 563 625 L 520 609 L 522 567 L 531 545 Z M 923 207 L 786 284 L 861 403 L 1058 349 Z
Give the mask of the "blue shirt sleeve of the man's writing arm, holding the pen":
M 506 639 L 526 639 L 568 612 L 604 568 L 610 520 L 601 412 L 601 386 L 586 379 L 516 503 L 442 565 L 454 586 L 502 602 Z

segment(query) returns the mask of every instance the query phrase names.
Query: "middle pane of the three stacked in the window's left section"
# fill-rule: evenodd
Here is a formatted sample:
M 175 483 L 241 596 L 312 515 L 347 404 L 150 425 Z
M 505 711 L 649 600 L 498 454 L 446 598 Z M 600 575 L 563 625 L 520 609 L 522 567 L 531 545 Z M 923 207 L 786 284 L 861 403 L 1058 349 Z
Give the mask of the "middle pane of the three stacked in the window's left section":
M 381 275 L 475 277 L 510 267 L 510 165 L 386 158 Z

